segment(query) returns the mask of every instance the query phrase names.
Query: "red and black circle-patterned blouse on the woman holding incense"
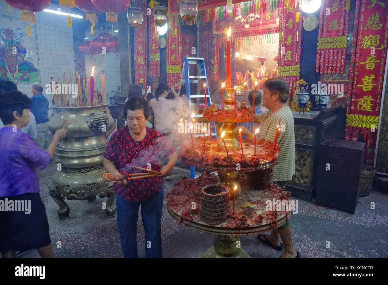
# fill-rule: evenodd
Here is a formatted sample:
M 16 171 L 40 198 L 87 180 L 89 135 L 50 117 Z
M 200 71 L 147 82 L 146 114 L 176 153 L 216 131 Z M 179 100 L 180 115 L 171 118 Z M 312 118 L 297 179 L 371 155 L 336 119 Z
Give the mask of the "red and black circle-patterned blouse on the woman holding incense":
M 104 157 L 114 161 L 120 173 L 146 173 L 132 166 L 147 168 L 148 163 L 151 165 L 151 170 L 160 171 L 160 164 L 166 164 L 168 157 L 175 152 L 161 133 L 148 127 L 145 128 L 147 133 L 139 142 L 133 140 L 128 126 L 117 130 L 111 136 Z M 155 197 L 162 187 L 163 178 L 152 176 L 129 180 L 127 185 L 114 183 L 113 189 L 127 201 L 142 202 Z

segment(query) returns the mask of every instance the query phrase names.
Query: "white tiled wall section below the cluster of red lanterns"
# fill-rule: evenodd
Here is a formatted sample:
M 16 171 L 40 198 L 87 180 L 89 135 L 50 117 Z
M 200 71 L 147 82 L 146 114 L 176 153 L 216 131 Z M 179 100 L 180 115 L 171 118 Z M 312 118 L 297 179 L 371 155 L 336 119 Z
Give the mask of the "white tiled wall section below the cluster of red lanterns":
M 87 38 L 87 40 L 93 40 L 100 33 L 102 33 L 102 31 L 95 28 L 94 34 L 91 35 L 90 28 L 88 28 L 85 32 L 85 38 Z M 117 35 L 117 33 L 114 33 L 114 35 Z M 106 75 L 106 92 L 108 92 L 108 94 L 110 94 L 111 91 L 117 92 L 117 86 L 120 85 L 120 60 L 116 59 L 116 55 L 113 53 L 104 55 L 104 59 L 99 59 L 98 55 L 94 55 L 93 58 L 93 60 L 88 60 L 88 56 L 85 55 L 86 74 L 90 75 L 92 73 L 92 67 L 95 66 L 94 74 L 96 76 L 95 78 L 97 78 L 95 84 L 98 84 L 98 90 L 101 92 L 101 74 L 102 71 L 104 71 L 104 74 Z M 109 100 L 107 102 L 109 102 Z

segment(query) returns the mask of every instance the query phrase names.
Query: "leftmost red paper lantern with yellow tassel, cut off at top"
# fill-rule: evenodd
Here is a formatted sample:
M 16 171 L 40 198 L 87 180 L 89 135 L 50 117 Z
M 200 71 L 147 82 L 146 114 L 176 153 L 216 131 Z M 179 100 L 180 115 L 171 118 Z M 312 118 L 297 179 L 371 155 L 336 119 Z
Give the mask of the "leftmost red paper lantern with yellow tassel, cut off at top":
M 5 0 L 10 6 L 22 11 L 22 21 L 35 23 L 35 12 L 43 11 L 50 0 Z

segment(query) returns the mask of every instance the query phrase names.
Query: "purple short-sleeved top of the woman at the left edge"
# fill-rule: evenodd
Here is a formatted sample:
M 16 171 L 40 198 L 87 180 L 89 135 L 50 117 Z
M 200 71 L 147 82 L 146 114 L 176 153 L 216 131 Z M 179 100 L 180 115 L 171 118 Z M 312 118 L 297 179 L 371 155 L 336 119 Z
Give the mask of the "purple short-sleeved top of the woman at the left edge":
M 50 154 L 31 137 L 12 127 L 0 129 L 0 197 L 39 193 L 36 167 L 46 168 Z

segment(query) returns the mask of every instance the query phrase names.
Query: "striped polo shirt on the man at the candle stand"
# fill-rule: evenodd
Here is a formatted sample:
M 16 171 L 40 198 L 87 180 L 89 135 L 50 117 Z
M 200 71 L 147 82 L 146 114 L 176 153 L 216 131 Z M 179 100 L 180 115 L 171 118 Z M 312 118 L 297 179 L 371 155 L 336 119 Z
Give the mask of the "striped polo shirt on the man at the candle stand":
M 276 126 L 280 119 L 280 128 L 277 144 L 280 147 L 279 159 L 274 166 L 274 181 L 291 180 L 295 174 L 295 135 L 294 117 L 288 105 L 272 114 L 267 111 L 258 114 L 257 118 L 263 125 L 262 138 L 267 141 L 275 141 Z M 283 126 L 284 125 L 284 126 Z

